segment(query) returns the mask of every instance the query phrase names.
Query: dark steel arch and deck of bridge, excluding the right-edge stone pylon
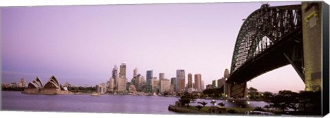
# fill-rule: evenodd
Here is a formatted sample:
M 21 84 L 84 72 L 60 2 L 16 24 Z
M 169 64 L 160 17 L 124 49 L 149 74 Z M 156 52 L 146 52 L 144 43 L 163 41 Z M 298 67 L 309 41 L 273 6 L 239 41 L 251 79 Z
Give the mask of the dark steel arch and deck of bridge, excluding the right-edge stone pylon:
M 301 5 L 264 4 L 243 19 L 225 82 L 226 95 L 246 97 L 246 82 L 287 64 L 305 82 L 301 12 Z

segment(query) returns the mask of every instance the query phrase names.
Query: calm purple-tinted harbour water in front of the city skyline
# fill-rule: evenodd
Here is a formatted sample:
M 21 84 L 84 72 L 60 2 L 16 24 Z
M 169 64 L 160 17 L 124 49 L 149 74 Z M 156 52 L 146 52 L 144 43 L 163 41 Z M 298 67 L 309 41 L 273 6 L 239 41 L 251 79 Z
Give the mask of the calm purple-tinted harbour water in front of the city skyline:
M 89 113 L 144 113 L 144 114 L 175 114 L 168 110 L 177 97 L 131 96 L 131 95 L 26 95 L 20 92 L 3 91 L 1 93 L 2 110 L 28 111 L 61 111 Z M 208 102 L 210 99 L 197 99 L 197 102 Z M 225 102 L 217 100 L 217 103 Z M 265 106 L 265 102 L 250 102 L 248 107 Z M 225 102 L 225 106 L 239 105 Z

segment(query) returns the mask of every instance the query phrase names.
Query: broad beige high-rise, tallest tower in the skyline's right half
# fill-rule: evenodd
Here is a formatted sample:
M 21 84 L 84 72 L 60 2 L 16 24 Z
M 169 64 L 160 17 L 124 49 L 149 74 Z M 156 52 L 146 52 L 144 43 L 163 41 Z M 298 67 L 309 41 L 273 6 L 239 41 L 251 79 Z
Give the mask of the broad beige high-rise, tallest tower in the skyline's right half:
M 186 73 L 183 69 L 177 70 L 177 79 L 175 84 L 175 91 L 176 92 L 184 92 L 185 90 L 185 79 L 186 79 Z

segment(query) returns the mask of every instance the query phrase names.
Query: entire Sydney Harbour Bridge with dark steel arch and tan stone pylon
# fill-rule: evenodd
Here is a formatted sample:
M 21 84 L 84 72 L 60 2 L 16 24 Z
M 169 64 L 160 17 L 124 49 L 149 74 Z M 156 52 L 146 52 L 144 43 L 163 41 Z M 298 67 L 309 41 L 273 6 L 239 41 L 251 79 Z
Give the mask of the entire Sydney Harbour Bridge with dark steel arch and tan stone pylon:
M 305 83 L 305 91 L 321 91 L 321 19 L 320 2 L 263 4 L 243 19 L 230 76 L 225 81 L 225 94 L 246 97 L 249 80 L 287 64 L 294 67 Z

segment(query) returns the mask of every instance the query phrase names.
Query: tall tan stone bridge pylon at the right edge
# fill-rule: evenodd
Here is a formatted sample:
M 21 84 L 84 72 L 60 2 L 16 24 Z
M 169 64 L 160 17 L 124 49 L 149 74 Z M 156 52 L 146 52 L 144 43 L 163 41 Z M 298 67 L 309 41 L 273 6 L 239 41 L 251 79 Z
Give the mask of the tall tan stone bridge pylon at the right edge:
M 301 8 L 303 16 L 305 91 L 321 91 L 322 3 L 303 2 Z

